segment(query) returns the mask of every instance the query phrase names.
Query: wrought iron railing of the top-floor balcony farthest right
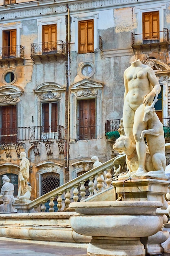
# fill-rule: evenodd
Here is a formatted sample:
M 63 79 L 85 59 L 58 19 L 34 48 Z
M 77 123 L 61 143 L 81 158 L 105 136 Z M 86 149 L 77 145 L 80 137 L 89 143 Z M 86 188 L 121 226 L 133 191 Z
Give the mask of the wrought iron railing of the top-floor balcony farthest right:
M 169 42 L 169 30 L 164 28 L 163 31 L 145 33 L 145 34 L 132 34 L 132 46 L 141 44 L 151 44 L 151 43 L 163 43 Z

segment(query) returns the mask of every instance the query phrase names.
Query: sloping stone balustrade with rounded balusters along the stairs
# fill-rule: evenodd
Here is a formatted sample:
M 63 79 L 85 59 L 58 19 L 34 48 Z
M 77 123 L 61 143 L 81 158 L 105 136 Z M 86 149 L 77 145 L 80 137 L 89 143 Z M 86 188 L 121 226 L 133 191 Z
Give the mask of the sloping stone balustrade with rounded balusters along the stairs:
M 101 175 L 103 174 L 104 171 L 106 171 L 106 188 L 110 188 L 110 184 L 112 181 L 112 166 L 113 166 L 113 161 L 115 158 L 110 159 L 109 161 L 105 162 L 104 164 L 101 164 L 100 166 L 91 169 L 90 171 L 87 171 L 86 173 L 80 175 L 79 177 L 76 177 L 75 179 L 67 182 L 66 184 L 53 189 L 49 193 L 46 193 L 45 195 L 40 196 L 39 198 L 33 200 L 28 204 L 29 209 L 33 209 L 36 207 L 39 207 L 41 205 L 41 211 L 44 212 L 46 211 L 46 206 L 45 203 L 50 200 L 49 202 L 49 212 L 54 211 L 54 199 L 57 197 L 57 208 L 58 211 L 61 211 L 63 209 L 64 205 L 64 210 L 66 210 L 69 207 L 69 204 L 71 202 L 71 195 L 73 195 L 73 201 L 77 202 L 79 200 L 79 191 L 78 187 L 80 186 L 80 201 L 85 200 L 85 195 L 86 195 L 86 187 L 84 186 L 84 183 L 89 180 L 88 186 L 89 186 L 89 195 L 88 197 L 93 196 L 93 179 L 95 175 L 98 175 L 97 177 L 97 188 L 98 188 L 98 193 L 102 191 L 102 177 Z M 105 189 L 106 189 L 105 188 Z M 63 200 L 62 196 L 65 194 L 65 199 Z M 63 202 L 64 201 L 64 202 Z

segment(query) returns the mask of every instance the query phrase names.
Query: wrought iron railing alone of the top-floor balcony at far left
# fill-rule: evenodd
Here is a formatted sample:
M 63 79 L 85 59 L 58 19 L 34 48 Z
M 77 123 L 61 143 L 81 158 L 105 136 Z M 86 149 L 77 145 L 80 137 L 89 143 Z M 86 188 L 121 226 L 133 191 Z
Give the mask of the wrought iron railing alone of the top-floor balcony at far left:
M 24 46 L 13 45 L 0 47 L 0 59 L 24 58 Z

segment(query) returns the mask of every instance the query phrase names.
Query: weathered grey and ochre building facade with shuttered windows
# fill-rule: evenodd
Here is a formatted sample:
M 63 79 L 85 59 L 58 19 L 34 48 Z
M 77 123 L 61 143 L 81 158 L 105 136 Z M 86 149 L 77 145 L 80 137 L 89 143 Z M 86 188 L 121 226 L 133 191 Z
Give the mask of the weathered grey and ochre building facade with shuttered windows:
M 33 199 L 110 159 L 105 123 L 135 58 L 157 74 L 166 126 L 169 28 L 167 0 L 0 0 L 0 175 L 18 189 L 24 150 Z

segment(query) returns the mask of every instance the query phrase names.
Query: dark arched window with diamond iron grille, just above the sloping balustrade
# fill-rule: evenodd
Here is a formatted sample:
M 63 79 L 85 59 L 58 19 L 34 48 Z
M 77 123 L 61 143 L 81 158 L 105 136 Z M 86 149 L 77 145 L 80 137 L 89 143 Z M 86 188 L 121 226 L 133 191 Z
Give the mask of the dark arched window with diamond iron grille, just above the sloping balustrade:
M 43 173 L 41 177 L 41 195 L 60 186 L 60 174 L 58 173 Z

